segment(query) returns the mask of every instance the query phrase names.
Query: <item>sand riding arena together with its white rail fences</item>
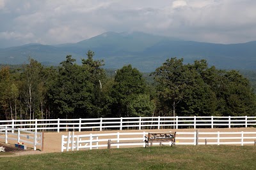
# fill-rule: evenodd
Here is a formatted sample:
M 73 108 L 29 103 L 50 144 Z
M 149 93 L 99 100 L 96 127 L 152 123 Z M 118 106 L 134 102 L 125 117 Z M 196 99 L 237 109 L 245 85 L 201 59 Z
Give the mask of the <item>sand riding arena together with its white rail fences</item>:
M 50 123 L 45 123 L 44 120 L 26 121 L 29 123 L 26 123 L 25 121 L 23 121 L 23 123 L 17 123 L 15 120 L 12 120 L 11 122 L 7 122 L 5 120 L 4 123 L 7 122 L 8 127 L 10 128 L 21 127 L 20 129 L 22 129 L 22 126 L 25 127 L 19 131 L 19 134 L 24 136 L 22 137 L 24 138 L 24 141 L 31 139 L 34 141 L 38 140 L 36 141 L 38 144 L 42 143 L 42 146 L 36 146 L 37 151 L 31 151 L 32 153 L 67 152 L 71 150 L 107 148 L 108 139 L 111 139 L 115 143 L 111 148 L 143 147 L 145 146 L 145 143 L 143 143 L 144 137 L 147 136 L 148 132 L 177 132 L 175 142 L 176 146 L 243 146 L 256 144 L 256 117 L 239 117 L 238 119 L 232 117 L 207 117 L 205 119 L 199 117 L 188 117 L 186 120 L 184 117 L 80 118 L 69 120 L 70 122 L 68 123 L 68 126 L 66 125 L 67 120 L 61 119 L 52 120 Z M 48 127 L 51 125 L 54 126 L 49 130 L 45 128 L 45 125 L 48 125 Z M 227 128 L 218 128 L 221 125 Z M 3 128 L 3 123 L 0 124 L 0 126 Z M 6 139 L 4 139 L 3 129 L 0 130 L 2 130 L 0 133 L 1 146 L 1 144 L 3 145 L 6 143 Z M 29 133 L 32 135 L 33 132 L 37 132 L 38 139 L 33 139 L 33 136 L 26 134 L 28 131 L 31 131 Z M 14 139 L 15 136 L 17 135 L 9 134 L 8 138 Z M 22 138 L 20 138 L 21 141 Z M 42 138 L 41 141 L 40 138 Z M 141 145 L 134 144 L 136 142 L 141 143 Z M 8 140 L 8 144 L 14 145 L 16 143 L 17 141 L 15 140 Z M 27 148 L 33 148 L 33 145 L 30 143 L 33 142 L 31 141 L 24 145 L 26 145 Z M 43 151 L 38 151 L 42 149 Z

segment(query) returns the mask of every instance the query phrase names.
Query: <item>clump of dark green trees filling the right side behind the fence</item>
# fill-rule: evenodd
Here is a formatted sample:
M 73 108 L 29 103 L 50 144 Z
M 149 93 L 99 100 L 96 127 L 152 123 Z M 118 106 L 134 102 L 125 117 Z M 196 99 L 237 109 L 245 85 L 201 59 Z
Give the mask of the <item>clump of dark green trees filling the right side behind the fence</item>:
M 186 116 L 238 116 L 255 114 L 255 94 L 238 71 L 208 67 L 206 60 L 183 64 L 168 59 L 153 73 L 159 95 L 158 110 Z M 170 107 L 172 106 L 172 107 Z

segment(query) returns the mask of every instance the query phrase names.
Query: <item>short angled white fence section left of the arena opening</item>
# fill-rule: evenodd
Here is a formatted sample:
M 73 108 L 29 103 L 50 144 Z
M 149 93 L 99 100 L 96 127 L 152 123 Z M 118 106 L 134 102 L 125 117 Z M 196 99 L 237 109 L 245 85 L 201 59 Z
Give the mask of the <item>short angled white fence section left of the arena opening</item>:
M 40 149 L 43 149 L 43 140 L 44 136 L 42 132 L 31 132 L 24 129 L 15 129 L 10 127 L 0 127 L 0 139 L 4 139 L 4 143 L 8 141 L 17 141 L 17 143 L 24 143 L 26 145 L 33 146 L 33 149 L 36 150 L 36 146 L 41 146 Z

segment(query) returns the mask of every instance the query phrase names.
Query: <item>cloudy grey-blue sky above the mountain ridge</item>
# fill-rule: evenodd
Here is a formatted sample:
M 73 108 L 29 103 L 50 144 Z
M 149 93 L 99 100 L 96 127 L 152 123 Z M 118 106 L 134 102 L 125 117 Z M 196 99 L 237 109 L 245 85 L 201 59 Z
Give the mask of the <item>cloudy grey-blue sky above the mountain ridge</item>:
M 210 43 L 256 40 L 255 0 L 0 0 L 0 48 L 140 31 Z

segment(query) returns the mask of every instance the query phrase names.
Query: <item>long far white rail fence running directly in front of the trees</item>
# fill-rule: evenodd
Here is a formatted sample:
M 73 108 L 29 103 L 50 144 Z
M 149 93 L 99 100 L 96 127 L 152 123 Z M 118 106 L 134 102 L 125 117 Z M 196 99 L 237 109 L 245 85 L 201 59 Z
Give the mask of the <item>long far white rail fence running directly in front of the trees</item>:
M 256 117 L 120 117 L 120 118 L 76 118 L 0 120 L 0 127 L 22 128 L 32 131 L 85 131 L 115 129 L 183 129 L 216 127 L 252 127 Z

